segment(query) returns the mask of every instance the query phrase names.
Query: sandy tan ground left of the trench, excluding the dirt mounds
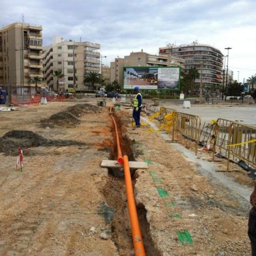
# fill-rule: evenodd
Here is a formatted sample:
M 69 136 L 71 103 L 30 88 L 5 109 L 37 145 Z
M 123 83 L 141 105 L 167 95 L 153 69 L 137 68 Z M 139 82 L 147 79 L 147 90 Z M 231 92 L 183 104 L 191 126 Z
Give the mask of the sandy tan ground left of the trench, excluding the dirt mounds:
M 33 148 L 36 155 L 25 154 L 23 173 L 15 170 L 16 157 L 1 154 L 0 255 L 118 255 L 111 240 L 99 238 L 108 225 L 97 214 L 105 201 L 98 188 L 106 170 L 99 163 L 109 153 L 98 150 L 112 136 L 108 114 L 84 115 L 74 129 L 44 129 L 38 123 L 70 105 L 74 102 L 52 102 L 0 114 L 1 135 L 24 129 L 86 143 Z

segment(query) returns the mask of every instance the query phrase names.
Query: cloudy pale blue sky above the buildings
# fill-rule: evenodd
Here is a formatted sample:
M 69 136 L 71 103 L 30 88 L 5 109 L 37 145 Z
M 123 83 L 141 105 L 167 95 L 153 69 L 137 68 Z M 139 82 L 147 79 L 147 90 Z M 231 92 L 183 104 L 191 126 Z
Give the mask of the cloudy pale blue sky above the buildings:
M 1 0 L 0 26 L 22 20 L 52 36 L 101 44 L 103 64 L 132 51 L 157 54 L 159 47 L 198 40 L 229 51 L 234 79 L 256 73 L 255 0 Z M 2 5 L 3 6 L 3 5 Z

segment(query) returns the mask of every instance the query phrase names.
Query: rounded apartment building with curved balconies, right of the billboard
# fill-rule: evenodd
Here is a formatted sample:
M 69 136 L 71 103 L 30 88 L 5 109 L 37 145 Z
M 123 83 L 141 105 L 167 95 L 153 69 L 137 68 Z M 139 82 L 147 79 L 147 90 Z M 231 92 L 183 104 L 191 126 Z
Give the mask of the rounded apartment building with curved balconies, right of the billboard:
M 201 80 L 201 65 L 203 67 L 202 81 L 205 86 L 212 86 L 213 84 L 220 86 L 222 83 L 223 54 L 213 46 L 198 44 L 198 42 L 180 46 L 167 45 L 160 47 L 159 53 L 162 55 L 171 54 L 184 59 L 184 72 L 188 72 L 192 67 L 198 69 L 200 77 L 195 81 L 197 84 L 200 84 Z

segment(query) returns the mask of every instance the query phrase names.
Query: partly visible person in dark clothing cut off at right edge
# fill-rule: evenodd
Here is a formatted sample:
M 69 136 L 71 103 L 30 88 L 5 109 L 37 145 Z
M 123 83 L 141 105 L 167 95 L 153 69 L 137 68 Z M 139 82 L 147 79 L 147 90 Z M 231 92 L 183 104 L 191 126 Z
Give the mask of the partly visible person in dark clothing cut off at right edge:
M 252 94 L 252 98 L 256 103 L 256 89 Z M 249 215 L 248 236 L 251 241 L 251 255 L 256 256 L 256 183 L 254 183 L 254 190 L 250 196 L 250 203 L 252 208 Z

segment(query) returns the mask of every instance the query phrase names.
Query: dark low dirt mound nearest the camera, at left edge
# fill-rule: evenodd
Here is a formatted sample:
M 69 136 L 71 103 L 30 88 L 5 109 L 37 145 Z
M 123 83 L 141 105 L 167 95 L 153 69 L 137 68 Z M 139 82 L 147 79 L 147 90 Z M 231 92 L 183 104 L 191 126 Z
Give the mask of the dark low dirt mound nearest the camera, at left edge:
M 74 140 L 49 140 L 31 131 L 13 130 L 1 138 L 0 152 L 6 155 L 17 155 L 18 147 L 22 147 L 25 152 L 29 147 L 71 145 L 84 145 L 84 143 Z

